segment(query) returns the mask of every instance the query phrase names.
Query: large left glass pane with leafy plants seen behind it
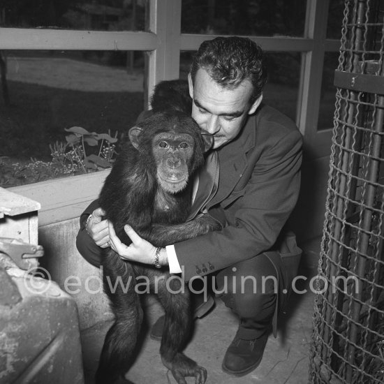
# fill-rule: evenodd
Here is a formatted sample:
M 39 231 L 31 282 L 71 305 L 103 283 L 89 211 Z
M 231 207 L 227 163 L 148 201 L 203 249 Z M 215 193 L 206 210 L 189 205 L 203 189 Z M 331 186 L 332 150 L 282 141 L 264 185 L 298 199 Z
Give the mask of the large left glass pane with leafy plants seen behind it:
M 118 149 L 144 108 L 144 53 L 8 51 L 5 59 L 8 96 L 4 90 L 0 96 L 0 186 L 108 165 L 99 158 L 109 159 L 112 144 Z M 80 128 L 66 131 L 72 127 L 89 134 Z M 96 133 L 119 140 L 105 141 Z

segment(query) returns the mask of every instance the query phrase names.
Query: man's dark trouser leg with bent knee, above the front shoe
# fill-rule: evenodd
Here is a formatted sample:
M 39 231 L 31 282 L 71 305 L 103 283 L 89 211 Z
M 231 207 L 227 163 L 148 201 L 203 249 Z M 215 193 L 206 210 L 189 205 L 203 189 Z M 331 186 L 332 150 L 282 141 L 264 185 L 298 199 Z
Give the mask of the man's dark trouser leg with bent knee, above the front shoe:
M 258 339 L 273 331 L 293 291 L 302 251 L 291 232 L 279 249 L 222 269 L 216 274 L 216 297 L 239 318 L 237 336 Z

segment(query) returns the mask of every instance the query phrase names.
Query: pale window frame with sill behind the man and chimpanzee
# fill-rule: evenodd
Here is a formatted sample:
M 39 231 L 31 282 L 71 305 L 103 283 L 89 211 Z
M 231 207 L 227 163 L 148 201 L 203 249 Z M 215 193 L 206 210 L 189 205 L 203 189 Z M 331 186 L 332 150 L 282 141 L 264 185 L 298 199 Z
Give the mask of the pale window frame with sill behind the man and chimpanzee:
M 307 0 L 304 36 L 246 36 L 268 52 L 301 52 L 297 126 L 304 148 L 313 158 L 330 154 L 332 127 L 318 131 L 321 79 L 325 52 L 339 51 L 339 40 L 326 38 L 329 0 Z M 179 77 L 181 51 L 197 50 L 215 35 L 181 34 L 180 0 L 147 0 L 148 31 L 68 31 L 0 28 L 0 50 L 138 50 L 146 51 L 145 100 L 161 80 Z M 147 103 L 147 102 L 146 102 Z M 97 198 L 109 171 L 52 179 L 10 188 L 41 204 L 39 226 L 80 216 Z

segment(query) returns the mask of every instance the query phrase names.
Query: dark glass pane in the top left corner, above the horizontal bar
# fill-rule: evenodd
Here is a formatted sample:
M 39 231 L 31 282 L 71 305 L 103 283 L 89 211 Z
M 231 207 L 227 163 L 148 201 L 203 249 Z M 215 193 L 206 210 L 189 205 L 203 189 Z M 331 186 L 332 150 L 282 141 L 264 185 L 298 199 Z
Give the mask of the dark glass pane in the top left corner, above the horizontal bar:
M 3 0 L 1 26 L 144 31 L 146 0 Z

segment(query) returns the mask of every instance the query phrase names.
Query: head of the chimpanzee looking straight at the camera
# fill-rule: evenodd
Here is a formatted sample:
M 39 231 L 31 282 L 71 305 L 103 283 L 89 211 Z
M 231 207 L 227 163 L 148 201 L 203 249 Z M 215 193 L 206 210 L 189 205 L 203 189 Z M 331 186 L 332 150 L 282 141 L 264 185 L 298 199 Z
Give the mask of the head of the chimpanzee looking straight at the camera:
M 181 192 L 189 176 L 204 163 L 204 153 L 212 147 L 211 135 L 184 112 L 154 113 L 128 131 L 129 140 L 138 150 L 140 171 L 156 177 L 167 193 Z

